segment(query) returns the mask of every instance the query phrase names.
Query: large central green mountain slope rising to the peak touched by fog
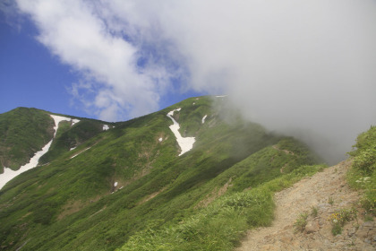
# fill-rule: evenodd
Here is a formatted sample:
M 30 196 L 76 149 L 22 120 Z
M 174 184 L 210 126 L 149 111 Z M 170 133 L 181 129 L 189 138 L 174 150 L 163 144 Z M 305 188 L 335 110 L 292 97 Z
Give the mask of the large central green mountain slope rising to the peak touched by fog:
M 196 140 L 182 156 L 168 127 L 176 108 L 180 133 Z M 4 250 L 114 250 L 150 222 L 179 222 L 221 195 L 319 161 L 302 143 L 242 120 L 224 98 L 184 100 L 107 131 L 103 124 L 63 125 L 47 164 L 0 191 Z

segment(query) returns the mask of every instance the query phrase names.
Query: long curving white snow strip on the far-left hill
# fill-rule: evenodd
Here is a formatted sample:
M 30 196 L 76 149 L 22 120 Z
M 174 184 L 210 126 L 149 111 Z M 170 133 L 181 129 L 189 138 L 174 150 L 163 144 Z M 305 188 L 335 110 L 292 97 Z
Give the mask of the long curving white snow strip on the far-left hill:
M 54 133 L 54 137 L 49 141 L 49 143 L 47 143 L 42 148 L 41 151 L 37 151 L 34 154 L 34 156 L 30 159 L 29 163 L 21 166 L 20 169 L 13 171 L 13 169 L 8 169 L 8 168 L 4 167 L 4 173 L 0 174 L 0 189 L 3 188 L 3 186 L 5 186 L 5 184 L 8 181 L 10 181 L 11 179 L 13 179 L 13 177 L 16 177 L 16 176 L 20 175 L 21 173 L 23 173 L 23 172 L 25 172 L 27 170 L 30 170 L 30 169 L 33 169 L 33 168 L 37 167 L 40 157 L 42 157 L 49 150 L 49 148 L 51 146 L 51 143 L 52 143 L 52 141 L 54 140 L 54 138 L 56 136 L 56 132 L 57 132 L 57 129 L 59 127 L 59 123 L 61 121 L 64 121 L 64 120 L 66 120 L 66 121 L 71 121 L 72 120 L 72 118 L 70 118 L 70 117 L 61 117 L 61 116 L 56 116 L 56 115 L 50 115 L 50 116 L 52 118 L 54 118 L 54 120 L 55 120 L 55 126 L 54 126 L 55 133 Z M 79 122 L 79 121 L 77 121 L 77 122 Z M 77 122 L 73 121 L 73 123 L 77 123 Z

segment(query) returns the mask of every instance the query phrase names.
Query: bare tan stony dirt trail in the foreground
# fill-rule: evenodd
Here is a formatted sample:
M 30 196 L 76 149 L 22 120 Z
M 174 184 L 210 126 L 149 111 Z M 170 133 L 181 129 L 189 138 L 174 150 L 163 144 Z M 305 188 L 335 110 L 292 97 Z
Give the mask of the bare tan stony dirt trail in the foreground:
M 346 184 L 350 160 L 303 178 L 294 186 L 275 195 L 275 220 L 270 227 L 252 229 L 237 251 L 248 250 L 376 250 L 376 223 L 363 222 L 359 195 Z M 332 203 L 329 203 L 331 201 Z M 294 223 L 300 213 L 318 209 L 303 232 L 295 233 Z M 355 206 L 357 221 L 346 223 L 342 234 L 331 233 L 329 216 L 338 209 Z

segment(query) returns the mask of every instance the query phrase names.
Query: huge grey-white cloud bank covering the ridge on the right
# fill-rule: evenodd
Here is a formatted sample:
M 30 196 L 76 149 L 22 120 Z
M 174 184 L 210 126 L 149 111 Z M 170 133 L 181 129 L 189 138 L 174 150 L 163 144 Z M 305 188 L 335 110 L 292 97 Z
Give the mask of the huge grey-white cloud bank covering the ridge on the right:
M 160 25 L 195 90 L 230 94 L 245 116 L 304 137 L 332 160 L 376 124 L 376 2 L 169 4 L 158 8 Z

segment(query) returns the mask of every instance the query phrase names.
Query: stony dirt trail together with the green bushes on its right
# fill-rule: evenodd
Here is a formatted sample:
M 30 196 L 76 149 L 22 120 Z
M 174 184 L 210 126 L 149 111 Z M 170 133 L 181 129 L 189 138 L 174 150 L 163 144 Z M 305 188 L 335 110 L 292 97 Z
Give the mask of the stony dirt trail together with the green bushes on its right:
M 252 229 L 237 250 L 375 250 L 376 127 L 352 158 L 275 195 L 275 220 Z

